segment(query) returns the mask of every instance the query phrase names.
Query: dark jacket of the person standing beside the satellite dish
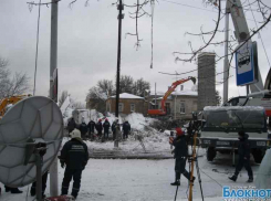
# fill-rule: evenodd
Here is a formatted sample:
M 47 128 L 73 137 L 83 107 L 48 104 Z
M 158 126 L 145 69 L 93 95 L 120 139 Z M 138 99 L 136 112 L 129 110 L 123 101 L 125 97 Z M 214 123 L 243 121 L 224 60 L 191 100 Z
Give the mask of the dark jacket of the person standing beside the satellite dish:
M 60 161 L 70 169 L 84 169 L 88 160 L 87 146 L 81 139 L 71 139 L 61 150 Z

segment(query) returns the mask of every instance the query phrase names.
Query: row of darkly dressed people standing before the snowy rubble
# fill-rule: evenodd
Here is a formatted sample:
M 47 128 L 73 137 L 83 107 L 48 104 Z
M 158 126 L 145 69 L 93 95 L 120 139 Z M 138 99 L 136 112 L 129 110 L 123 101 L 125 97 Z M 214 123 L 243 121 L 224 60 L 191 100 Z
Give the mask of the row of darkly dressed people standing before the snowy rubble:
M 118 125 L 118 119 L 114 120 L 112 125 L 107 118 L 105 118 L 104 123 L 102 123 L 102 119 L 98 119 L 97 123 L 95 123 L 94 120 L 90 120 L 90 123 L 86 125 L 86 123 L 82 120 L 82 123 L 77 125 L 74 118 L 71 118 L 67 123 L 67 130 L 70 134 L 74 128 L 77 128 L 81 131 L 82 139 L 86 139 L 88 137 L 91 140 L 93 140 L 95 137 L 108 139 L 110 129 L 111 129 L 113 134 L 113 140 L 115 140 L 117 125 Z M 131 125 L 128 120 L 126 120 L 122 125 L 122 128 L 123 128 L 123 139 L 128 138 L 128 134 L 131 131 Z

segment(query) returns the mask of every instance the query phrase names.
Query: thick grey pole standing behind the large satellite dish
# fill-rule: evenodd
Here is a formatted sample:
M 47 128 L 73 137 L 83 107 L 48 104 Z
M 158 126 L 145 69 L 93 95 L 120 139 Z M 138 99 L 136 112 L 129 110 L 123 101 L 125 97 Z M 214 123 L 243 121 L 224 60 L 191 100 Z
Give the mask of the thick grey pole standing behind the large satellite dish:
M 50 97 L 55 100 L 58 87 L 54 88 L 54 75 L 56 74 L 58 66 L 58 14 L 59 14 L 59 0 L 52 0 L 51 7 L 51 51 L 50 51 Z M 58 80 L 58 77 L 56 77 Z M 55 92 L 56 91 L 56 92 Z M 58 102 L 58 95 L 56 95 Z M 59 179 L 58 179 L 58 158 L 55 157 L 50 167 L 50 194 L 51 197 L 59 195 Z

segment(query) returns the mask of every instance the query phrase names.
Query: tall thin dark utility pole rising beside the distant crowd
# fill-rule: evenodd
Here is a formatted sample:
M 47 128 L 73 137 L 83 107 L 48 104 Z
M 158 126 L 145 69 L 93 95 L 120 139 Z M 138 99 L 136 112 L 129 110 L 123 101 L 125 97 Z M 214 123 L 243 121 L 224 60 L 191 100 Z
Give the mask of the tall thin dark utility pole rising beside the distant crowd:
M 117 70 L 116 70 L 116 108 L 115 108 L 115 117 L 118 117 L 118 103 L 119 103 L 119 76 L 121 76 L 121 59 L 122 59 L 122 21 L 124 19 L 123 14 L 123 0 L 119 0 L 119 4 L 117 6 L 118 10 L 118 42 L 117 42 Z M 118 121 L 119 124 L 119 121 Z M 118 138 L 121 130 L 116 130 L 116 139 L 114 147 L 118 147 Z

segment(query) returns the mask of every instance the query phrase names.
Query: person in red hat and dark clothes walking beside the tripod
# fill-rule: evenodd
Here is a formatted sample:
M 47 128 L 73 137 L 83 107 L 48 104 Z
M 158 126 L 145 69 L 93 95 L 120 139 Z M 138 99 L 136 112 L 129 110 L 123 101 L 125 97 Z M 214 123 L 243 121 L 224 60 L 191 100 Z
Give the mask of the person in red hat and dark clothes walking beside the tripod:
M 190 173 L 186 170 L 186 160 L 188 157 L 188 146 L 185 137 L 185 133 L 181 128 L 176 128 L 176 138 L 169 137 L 169 144 L 175 147 L 174 158 L 175 158 L 175 182 L 171 186 L 179 186 L 180 174 L 183 173 L 186 179 L 190 181 Z M 190 182 L 194 182 L 195 177 Z

